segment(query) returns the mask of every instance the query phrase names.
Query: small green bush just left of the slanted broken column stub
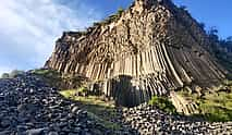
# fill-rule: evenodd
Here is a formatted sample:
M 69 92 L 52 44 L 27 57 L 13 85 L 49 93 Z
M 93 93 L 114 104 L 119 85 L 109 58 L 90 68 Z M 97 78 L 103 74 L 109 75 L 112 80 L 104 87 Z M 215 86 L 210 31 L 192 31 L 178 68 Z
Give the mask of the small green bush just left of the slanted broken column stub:
M 169 101 L 169 99 L 167 97 L 154 96 L 150 99 L 149 105 L 156 106 L 160 110 L 163 110 L 163 111 L 169 112 L 169 113 L 173 113 L 173 114 L 178 113 L 175 107 L 172 105 L 171 101 Z

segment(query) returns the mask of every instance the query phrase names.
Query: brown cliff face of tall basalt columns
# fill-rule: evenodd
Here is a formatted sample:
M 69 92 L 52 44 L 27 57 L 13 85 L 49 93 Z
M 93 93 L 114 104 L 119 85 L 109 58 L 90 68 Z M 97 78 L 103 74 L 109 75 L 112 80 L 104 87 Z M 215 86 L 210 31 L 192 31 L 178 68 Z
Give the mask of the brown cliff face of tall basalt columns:
M 190 86 L 212 87 L 223 69 L 199 24 L 170 0 L 136 0 L 120 17 L 57 40 L 46 68 L 98 82 L 123 106 Z

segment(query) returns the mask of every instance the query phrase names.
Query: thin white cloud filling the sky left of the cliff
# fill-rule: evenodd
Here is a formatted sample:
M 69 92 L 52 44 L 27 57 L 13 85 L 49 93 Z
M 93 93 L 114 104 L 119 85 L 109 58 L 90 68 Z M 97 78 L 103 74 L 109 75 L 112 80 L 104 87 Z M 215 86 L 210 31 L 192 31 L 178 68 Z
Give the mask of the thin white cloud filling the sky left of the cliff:
M 54 0 L 2 0 L 0 4 L 0 72 L 42 66 L 63 30 L 87 27 L 100 14 L 81 0 L 76 10 Z M 13 65 L 13 66 L 12 66 Z

